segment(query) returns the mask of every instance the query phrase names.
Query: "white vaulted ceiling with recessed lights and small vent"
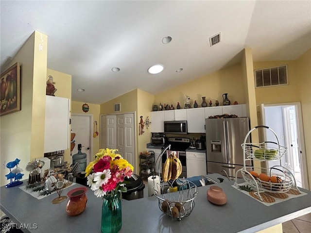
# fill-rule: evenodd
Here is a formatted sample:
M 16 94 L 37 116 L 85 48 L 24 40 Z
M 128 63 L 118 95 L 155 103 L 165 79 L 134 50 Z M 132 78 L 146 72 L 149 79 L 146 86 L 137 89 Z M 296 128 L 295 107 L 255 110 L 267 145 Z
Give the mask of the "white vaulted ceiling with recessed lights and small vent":
M 310 0 L 1 0 L 0 11 L 1 72 L 39 31 L 48 68 L 72 75 L 72 100 L 95 104 L 136 88 L 160 93 L 239 63 L 246 47 L 254 61 L 295 60 L 311 48 Z M 155 64 L 164 70 L 148 74 Z

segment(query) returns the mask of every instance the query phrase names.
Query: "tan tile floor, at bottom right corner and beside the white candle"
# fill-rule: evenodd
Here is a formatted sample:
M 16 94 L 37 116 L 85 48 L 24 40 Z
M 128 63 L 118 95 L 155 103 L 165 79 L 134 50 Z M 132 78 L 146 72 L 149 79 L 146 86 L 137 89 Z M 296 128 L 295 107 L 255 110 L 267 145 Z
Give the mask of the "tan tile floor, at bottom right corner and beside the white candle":
M 148 197 L 148 181 L 143 179 L 146 187 L 144 197 Z M 311 213 L 282 223 L 283 233 L 311 233 Z

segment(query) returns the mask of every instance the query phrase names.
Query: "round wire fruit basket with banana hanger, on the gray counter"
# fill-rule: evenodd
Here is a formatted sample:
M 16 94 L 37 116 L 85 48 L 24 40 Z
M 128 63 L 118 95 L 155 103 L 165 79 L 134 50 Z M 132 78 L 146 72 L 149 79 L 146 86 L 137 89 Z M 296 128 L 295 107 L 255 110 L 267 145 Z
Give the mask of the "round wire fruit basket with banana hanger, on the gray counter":
M 167 146 L 159 155 L 162 158 L 164 152 L 170 149 Z M 155 171 L 154 171 L 155 176 Z M 170 190 L 167 192 L 167 190 Z M 189 216 L 195 205 L 195 198 L 198 194 L 197 186 L 183 178 L 168 181 L 164 183 L 155 183 L 153 194 L 158 199 L 159 209 L 170 217 L 176 218 L 179 221 L 186 216 Z

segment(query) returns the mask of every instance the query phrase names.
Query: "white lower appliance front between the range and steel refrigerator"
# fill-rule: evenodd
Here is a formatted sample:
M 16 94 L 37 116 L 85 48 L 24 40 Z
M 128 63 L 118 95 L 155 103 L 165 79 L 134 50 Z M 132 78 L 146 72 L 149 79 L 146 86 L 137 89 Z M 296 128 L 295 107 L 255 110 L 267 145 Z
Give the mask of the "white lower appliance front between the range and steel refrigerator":
M 206 153 L 186 151 L 187 177 L 207 175 Z

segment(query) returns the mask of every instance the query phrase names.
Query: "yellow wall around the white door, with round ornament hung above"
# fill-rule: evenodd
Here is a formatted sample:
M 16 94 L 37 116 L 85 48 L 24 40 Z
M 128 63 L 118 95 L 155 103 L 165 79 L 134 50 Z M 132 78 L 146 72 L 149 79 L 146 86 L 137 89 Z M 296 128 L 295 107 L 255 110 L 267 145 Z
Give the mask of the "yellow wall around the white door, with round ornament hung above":
M 89 106 L 89 110 L 87 113 L 83 112 L 82 105 L 85 104 L 85 102 L 77 102 L 77 101 L 71 101 L 71 114 L 72 113 L 79 113 L 79 114 L 92 114 L 93 115 L 93 121 L 97 121 L 97 131 L 100 132 L 100 105 L 99 104 L 92 104 L 87 103 Z M 92 137 L 91 140 L 93 140 L 93 148 L 92 153 L 95 154 L 100 149 L 100 137 Z M 93 155 L 92 154 L 92 155 Z M 70 160 L 71 161 L 71 158 Z

